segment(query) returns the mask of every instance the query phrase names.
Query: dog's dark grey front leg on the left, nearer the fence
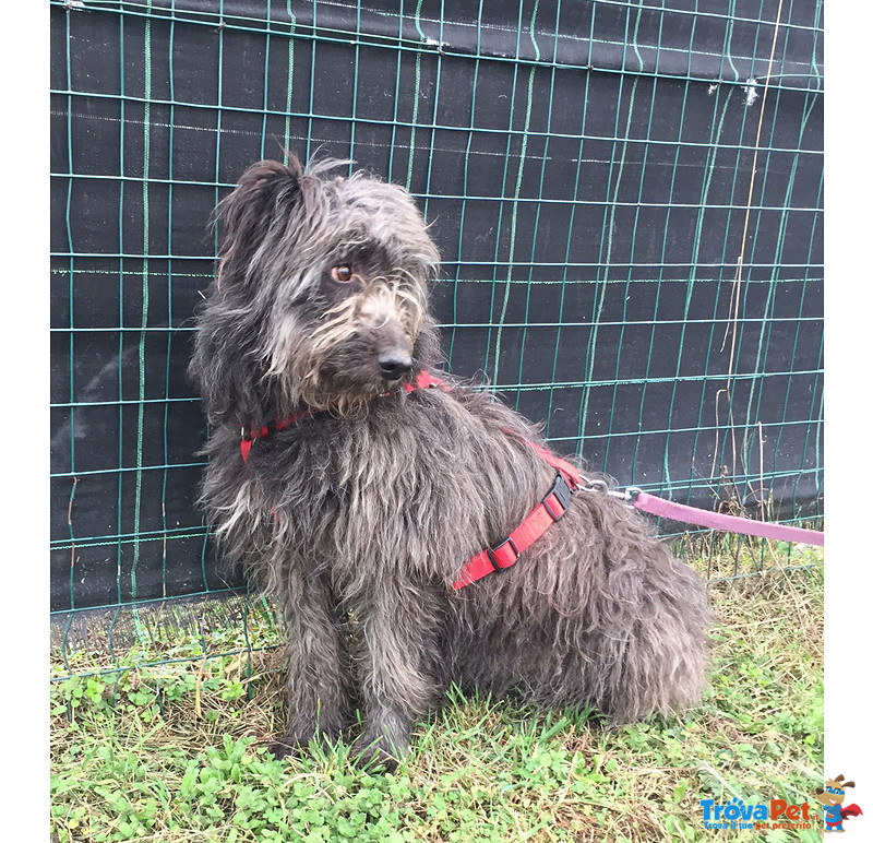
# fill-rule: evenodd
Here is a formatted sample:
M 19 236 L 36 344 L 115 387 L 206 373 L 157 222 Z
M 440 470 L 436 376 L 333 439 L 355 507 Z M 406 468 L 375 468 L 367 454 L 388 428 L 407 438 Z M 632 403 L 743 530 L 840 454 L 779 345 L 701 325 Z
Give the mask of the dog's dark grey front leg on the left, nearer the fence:
M 288 726 L 271 747 L 278 758 L 299 752 L 313 737 L 338 737 L 350 709 L 344 624 L 330 584 L 323 575 L 291 570 L 284 585 Z

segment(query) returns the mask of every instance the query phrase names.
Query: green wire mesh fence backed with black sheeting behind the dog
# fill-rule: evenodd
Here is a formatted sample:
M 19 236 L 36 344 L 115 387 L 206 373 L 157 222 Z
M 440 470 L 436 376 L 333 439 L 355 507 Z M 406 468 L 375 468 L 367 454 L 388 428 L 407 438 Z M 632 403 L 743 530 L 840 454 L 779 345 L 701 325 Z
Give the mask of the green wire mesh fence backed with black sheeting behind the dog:
M 821 2 L 494 5 L 51 3 L 58 676 L 271 628 L 212 566 L 184 368 L 210 213 L 286 150 L 419 199 L 447 368 L 555 450 L 821 518 Z

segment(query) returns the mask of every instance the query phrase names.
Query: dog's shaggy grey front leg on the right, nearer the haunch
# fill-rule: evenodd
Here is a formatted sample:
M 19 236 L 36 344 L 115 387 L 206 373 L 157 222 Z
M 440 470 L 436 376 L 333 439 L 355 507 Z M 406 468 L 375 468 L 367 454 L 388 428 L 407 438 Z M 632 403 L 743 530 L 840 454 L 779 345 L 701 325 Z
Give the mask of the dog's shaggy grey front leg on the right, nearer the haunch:
M 355 751 L 393 770 L 412 725 L 445 690 L 434 602 L 414 587 L 385 585 L 366 613 L 366 725 Z

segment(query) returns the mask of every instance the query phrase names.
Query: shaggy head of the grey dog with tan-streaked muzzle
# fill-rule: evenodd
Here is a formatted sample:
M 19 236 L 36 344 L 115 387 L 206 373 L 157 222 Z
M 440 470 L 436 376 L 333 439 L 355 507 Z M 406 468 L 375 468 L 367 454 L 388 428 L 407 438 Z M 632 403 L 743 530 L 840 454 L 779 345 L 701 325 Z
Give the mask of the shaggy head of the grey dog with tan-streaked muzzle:
M 359 412 L 432 363 L 436 247 L 403 188 L 330 175 L 346 163 L 263 161 L 218 204 L 191 366 L 212 420 Z

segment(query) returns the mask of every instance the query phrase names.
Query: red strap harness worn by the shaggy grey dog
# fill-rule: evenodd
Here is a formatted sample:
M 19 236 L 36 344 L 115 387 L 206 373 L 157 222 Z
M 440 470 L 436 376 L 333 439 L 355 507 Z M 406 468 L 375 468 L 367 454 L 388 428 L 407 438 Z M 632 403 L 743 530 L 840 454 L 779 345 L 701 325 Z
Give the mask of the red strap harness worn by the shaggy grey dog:
M 449 390 L 449 387 L 443 381 L 426 371 L 418 375 L 415 383 L 405 384 L 407 392 L 434 387 Z M 243 429 L 239 443 L 242 461 L 248 461 L 249 452 L 258 439 L 263 439 L 277 430 L 284 430 L 295 422 L 299 422 L 309 415 L 311 415 L 311 411 L 303 409 L 283 422 L 273 422 L 264 425 L 258 431 L 250 430 L 247 434 Z M 555 470 L 554 483 L 546 497 L 534 507 L 525 520 L 506 538 L 491 547 L 487 547 L 467 560 L 461 569 L 461 577 L 453 584 L 455 591 L 481 580 L 482 577 L 489 573 L 502 571 L 515 565 L 518 557 L 566 512 L 573 490 L 584 485 L 582 474 L 579 474 L 575 465 L 571 465 L 566 460 L 555 456 L 551 451 L 538 446 L 536 442 L 529 442 L 526 439 L 523 441 Z

